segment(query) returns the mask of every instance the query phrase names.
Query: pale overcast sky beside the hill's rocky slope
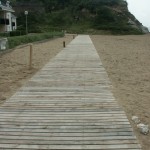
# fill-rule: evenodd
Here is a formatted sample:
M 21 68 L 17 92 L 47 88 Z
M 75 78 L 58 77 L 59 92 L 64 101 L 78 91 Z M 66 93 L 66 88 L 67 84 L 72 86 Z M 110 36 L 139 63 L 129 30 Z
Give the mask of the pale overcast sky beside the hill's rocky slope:
M 129 11 L 150 28 L 150 0 L 127 0 Z

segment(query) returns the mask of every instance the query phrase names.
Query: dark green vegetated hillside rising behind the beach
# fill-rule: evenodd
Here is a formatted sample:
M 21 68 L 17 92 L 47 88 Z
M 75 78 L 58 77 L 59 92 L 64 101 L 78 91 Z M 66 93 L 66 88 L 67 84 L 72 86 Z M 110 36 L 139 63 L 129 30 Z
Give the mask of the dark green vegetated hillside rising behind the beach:
M 30 32 L 111 32 L 140 34 L 142 24 L 128 11 L 124 0 L 11 0 L 20 30 L 25 28 L 28 10 Z

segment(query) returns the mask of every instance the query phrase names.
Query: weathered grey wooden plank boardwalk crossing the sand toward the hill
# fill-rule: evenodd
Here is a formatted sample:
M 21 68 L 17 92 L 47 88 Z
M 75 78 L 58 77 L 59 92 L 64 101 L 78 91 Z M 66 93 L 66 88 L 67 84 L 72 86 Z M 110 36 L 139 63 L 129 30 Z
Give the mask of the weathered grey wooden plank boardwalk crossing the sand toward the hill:
M 140 150 L 89 36 L 0 107 L 0 150 Z

